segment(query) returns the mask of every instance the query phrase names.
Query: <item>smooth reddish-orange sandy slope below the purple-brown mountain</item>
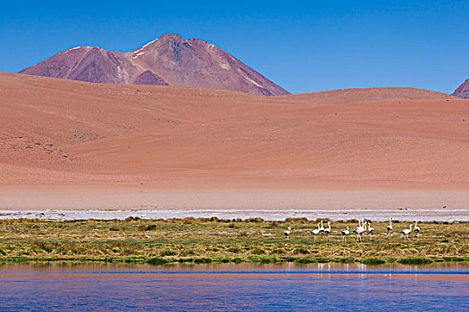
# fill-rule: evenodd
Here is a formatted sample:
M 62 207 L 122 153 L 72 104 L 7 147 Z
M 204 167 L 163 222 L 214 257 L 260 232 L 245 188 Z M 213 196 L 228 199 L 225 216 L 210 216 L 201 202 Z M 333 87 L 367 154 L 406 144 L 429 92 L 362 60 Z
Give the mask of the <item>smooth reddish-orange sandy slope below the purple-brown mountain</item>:
M 4 208 L 469 206 L 469 101 L 447 94 L 269 98 L 1 73 L 0 111 Z

